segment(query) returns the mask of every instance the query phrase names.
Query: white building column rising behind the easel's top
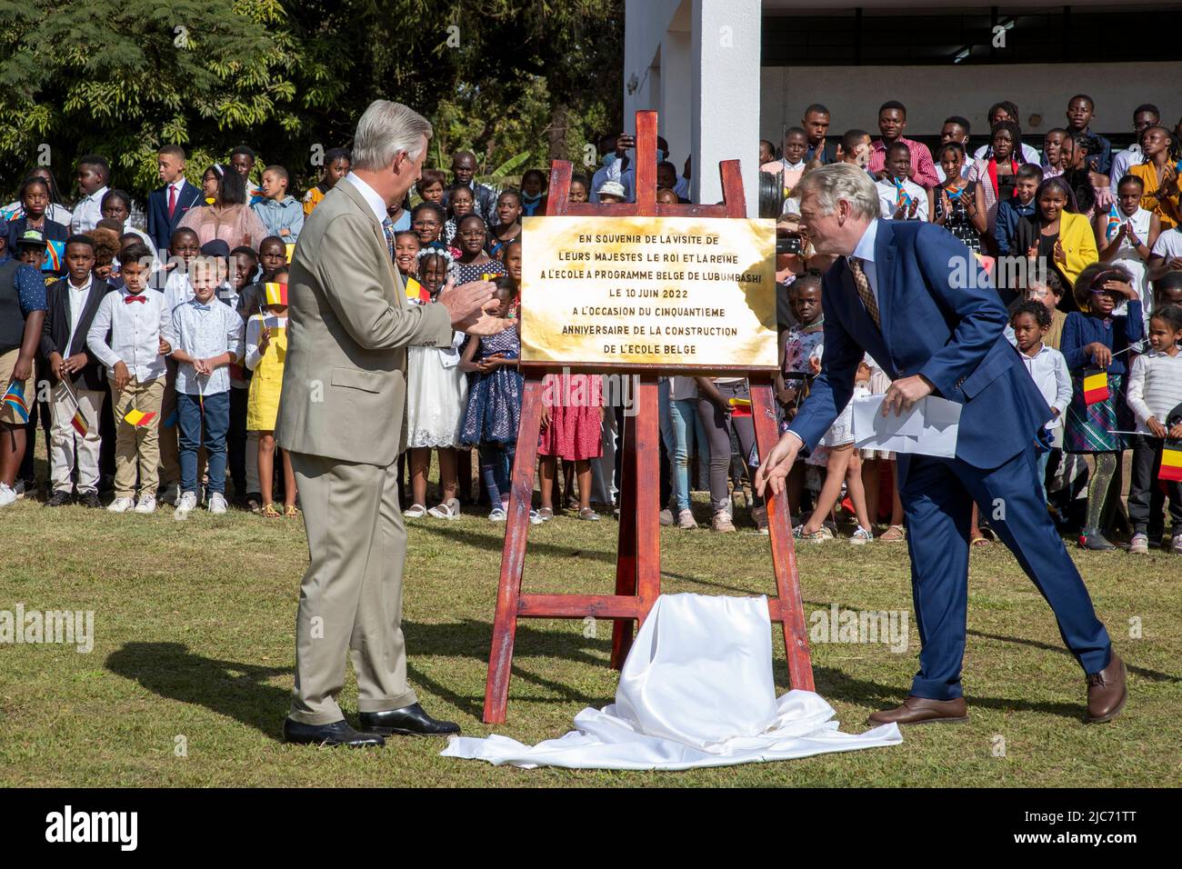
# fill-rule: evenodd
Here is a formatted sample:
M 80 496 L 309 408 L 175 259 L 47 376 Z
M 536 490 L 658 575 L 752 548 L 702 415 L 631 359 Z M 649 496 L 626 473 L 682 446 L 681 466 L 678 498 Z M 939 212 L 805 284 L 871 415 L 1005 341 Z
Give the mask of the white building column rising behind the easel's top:
M 752 218 L 759 210 L 761 6 L 760 0 L 693 0 L 690 13 L 693 199 L 719 202 L 719 161 L 738 158 Z

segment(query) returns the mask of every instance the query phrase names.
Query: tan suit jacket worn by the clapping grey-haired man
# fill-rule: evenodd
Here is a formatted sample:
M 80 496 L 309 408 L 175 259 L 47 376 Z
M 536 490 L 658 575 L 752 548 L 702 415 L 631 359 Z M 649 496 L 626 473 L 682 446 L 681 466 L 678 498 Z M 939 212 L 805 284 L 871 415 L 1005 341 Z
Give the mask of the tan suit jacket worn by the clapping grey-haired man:
M 407 348 L 448 345 L 442 305 L 411 305 L 382 226 L 338 182 L 304 223 L 287 284 L 287 358 L 275 442 L 390 465 L 405 448 Z

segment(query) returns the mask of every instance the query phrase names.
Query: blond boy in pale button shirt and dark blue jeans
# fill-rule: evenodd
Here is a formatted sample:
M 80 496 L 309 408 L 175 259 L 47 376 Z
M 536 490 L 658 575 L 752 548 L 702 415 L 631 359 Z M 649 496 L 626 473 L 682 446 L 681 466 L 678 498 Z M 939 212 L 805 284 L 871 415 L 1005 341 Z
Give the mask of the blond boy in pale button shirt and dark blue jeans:
M 229 365 L 242 358 L 242 318 L 214 298 L 226 261 L 201 258 L 189 270 L 194 297 L 173 311 L 176 348 L 176 413 L 181 427 L 181 499 L 174 518 L 197 506 L 197 449 L 206 448 L 209 512 L 226 512 L 226 433 L 229 429 Z M 202 437 L 203 435 L 203 437 Z

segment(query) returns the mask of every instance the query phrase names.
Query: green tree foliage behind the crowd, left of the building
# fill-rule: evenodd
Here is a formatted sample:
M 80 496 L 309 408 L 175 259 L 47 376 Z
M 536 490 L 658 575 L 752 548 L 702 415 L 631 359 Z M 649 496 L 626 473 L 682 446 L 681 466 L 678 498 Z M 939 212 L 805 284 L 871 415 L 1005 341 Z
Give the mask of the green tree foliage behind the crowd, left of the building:
M 304 187 L 375 98 L 431 119 L 429 164 L 583 163 L 622 44 L 623 0 L 0 0 L 0 188 L 48 164 L 65 193 L 98 153 L 142 199 L 167 142 L 195 183 L 246 143 Z

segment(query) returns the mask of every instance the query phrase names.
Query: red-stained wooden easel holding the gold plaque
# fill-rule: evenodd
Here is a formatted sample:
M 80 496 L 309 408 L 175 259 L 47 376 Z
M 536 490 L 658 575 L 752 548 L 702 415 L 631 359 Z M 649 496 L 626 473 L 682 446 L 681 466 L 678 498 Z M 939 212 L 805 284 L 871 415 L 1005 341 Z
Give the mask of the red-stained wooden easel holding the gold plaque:
M 571 164 L 556 160 L 550 169 L 546 215 L 571 216 L 747 216 L 747 203 L 739 174 L 739 161 L 719 163 L 722 174 L 722 205 L 665 205 L 656 201 L 657 114 L 636 112 L 636 202 L 570 202 Z M 528 303 L 526 303 L 528 304 Z M 543 407 L 543 380 L 557 372 L 553 363 L 521 363 L 525 391 L 521 398 L 521 423 L 518 429 L 517 455 L 509 494 L 508 521 L 501 553 L 501 578 L 496 592 L 496 616 L 493 622 L 493 646 L 488 656 L 488 682 L 485 688 L 486 724 L 502 724 L 508 705 L 509 675 L 513 664 L 513 641 L 519 618 L 596 618 L 615 620 L 611 640 L 611 666 L 619 669 L 632 643 L 632 622 L 642 623 L 661 594 L 661 537 L 657 485 L 661 456 L 658 442 L 657 376 L 671 374 L 741 375 L 751 383 L 752 415 L 760 456 L 775 446 L 775 409 L 772 403 L 774 369 L 752 370 L 736 365 L 709 369 L 662 365 L 569 365 L 567 370 L 602 374 L 605 370 L 639 375 L 637 413 L 625 417 L 623 473 L 619 504 L 619 546 L 616 558 L 615 595 L 527 595 L 521 591 L 525 565 L 526 532 L 530 528 L 530 505 L 533 498 L 534 462 L 538 456 Z M 786 498 L 767 499 L 772 565 L 775 572 L 777 598 L 768 599 L 773 622 L 784 625 L 788 679 L 794 688 L 813 689 L 812 663 L 795 550 L 788 520 Z M 703 544 L 706 541 L 703 540 Z

